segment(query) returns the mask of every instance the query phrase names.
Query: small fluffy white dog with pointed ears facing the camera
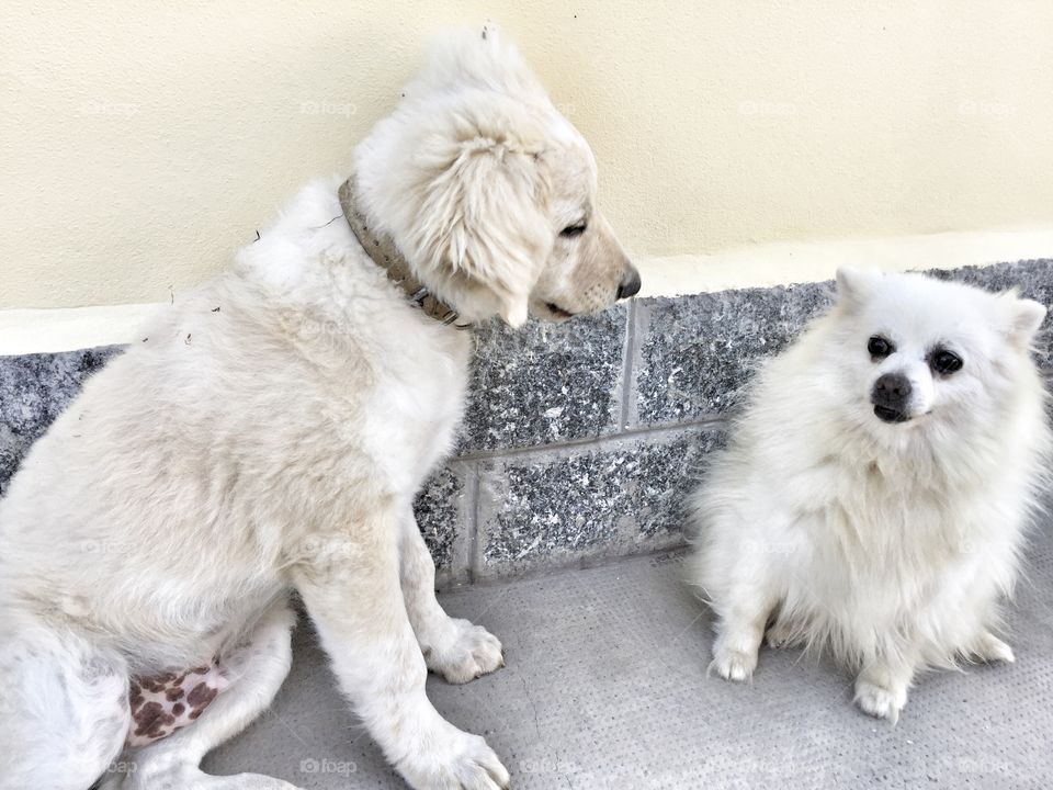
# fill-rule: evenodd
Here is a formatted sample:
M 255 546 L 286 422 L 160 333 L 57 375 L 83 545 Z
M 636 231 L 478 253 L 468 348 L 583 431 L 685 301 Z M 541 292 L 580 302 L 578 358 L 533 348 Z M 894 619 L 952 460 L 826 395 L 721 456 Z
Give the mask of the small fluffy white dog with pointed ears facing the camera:
M 1014 659 L 995 635 L 1050 449 L 1030 348 L 1045 308 L 842 270 L 837 302 L 759 374 L 691 507 L 712 667 L 828 648 L 895 721 L 915 673 Z

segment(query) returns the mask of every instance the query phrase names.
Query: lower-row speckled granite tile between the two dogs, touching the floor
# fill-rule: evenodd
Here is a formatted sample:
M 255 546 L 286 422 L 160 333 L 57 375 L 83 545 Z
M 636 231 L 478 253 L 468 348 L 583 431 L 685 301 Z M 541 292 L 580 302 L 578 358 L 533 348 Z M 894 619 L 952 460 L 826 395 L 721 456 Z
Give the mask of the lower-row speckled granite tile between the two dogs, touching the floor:
M 689 429 L 483 462 L 476 574 L 678 544 L 683 495 L 722 441 Z

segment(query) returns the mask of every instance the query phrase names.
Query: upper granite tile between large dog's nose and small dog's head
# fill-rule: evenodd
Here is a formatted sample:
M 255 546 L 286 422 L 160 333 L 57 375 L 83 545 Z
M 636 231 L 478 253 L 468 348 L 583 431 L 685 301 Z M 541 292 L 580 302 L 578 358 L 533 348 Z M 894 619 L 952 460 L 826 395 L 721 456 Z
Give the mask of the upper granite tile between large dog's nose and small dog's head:
M 818 283 L 641 301 L 630 422 L 729 411 L 757 363 L 781 351 L 829 295 L 829 283 Z

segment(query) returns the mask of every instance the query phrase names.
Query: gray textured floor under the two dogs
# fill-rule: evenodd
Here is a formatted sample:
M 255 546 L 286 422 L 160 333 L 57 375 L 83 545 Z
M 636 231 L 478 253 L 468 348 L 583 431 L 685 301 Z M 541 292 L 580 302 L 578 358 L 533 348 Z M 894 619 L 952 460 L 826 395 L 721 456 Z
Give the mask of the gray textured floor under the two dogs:
M 483 734 L 516 790 L 1049 788 L 1053 783 L 1053 540 L 1037 535 L 1010 619 L 1017 663 L 920 678 L 893 727 L 851 704 L 851 678 L 765 650 L 749 686 L 705 673 L 709 618 L 681 557 L 442 596 L 505 643 L 467 686 L 430 678 L 435 707 Z M 215 774 L 302 788 L 405 788 L 336 692 L 306 623 L 273 709 L 214 753 Z

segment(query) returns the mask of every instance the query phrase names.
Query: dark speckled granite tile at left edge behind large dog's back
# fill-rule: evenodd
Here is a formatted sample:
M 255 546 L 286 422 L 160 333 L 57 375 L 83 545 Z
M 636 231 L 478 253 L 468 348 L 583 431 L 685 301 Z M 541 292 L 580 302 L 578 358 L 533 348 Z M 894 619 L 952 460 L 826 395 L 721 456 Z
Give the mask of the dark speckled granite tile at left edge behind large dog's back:
M 0 496 L 25 453 L 80 392 L 89 375 L 121 353 L 110 346 L 0 357 Z

